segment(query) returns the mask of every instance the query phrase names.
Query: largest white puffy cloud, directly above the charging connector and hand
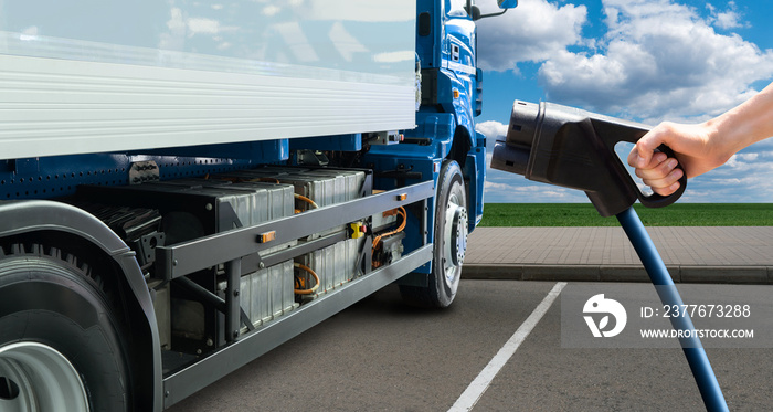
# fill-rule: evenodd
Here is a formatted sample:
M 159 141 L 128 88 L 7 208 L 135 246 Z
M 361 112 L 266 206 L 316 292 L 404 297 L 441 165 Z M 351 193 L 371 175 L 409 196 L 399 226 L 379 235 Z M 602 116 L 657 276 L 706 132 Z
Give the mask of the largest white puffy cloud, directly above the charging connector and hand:
M 603 6 L 607 32 L 597 50 L 558 50 L 541 65 L 549 99 L 649 123 L 689 119 L 727 110 L 773 76 L 773 51 L 714 31 L 711 23 L 730 24 L 721 13 L 701 18 L 671 0 Z

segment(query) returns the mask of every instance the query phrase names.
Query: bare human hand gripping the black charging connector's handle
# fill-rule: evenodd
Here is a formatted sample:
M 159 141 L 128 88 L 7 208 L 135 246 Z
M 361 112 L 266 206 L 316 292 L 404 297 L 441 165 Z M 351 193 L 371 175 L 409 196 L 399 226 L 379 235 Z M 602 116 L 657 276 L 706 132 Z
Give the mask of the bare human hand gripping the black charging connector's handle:
M 678 180 L 684 173 L 688 178 L 702 175 L 724 163 L 730 155 L 720 148 L 710 124 L 681 125 L 661 123 L 644 135 L 628 155 L 628 165 L 636 176 L 658 194 L 669 196 L 679 189 Z M 666 145 L 677 154 L 668 158 L 656 152 Z M 677 162 L 678 160 L 678 162 Z M 677 169 L 677 163 L 680 169 Z

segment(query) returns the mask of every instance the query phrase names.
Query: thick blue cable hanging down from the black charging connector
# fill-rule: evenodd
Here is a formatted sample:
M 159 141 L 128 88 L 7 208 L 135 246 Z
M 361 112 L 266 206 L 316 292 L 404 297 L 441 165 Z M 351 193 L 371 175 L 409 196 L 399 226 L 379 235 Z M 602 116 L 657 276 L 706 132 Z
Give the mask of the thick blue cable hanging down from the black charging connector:
M 679 296 L 679 292 L 676 289 L 674 281 L 671 281 L 671 276 L 668 274 L 663 258 L 660 258 L 660 254 L 657 252 L 657 249 L 655 249 L 655 244 L 653 244 L 652 239 L 649 239 L 649 234 L 644 229 L 634 208 L 626 209 L 617 214 L 616 218 L 623 226 L 625 234 L 628 236 L 628 240 L 631 240 L 631 243 L 634 245 L 634 250 L 636 250 L 638 257 L 642 260 L 653 285 L 656 286 L 663 304 L 682 305 L 681 296 Z M 670 317 L 670 320 L 671 326 L 676 330 L 695 330 L 692 320 L 690 320 L 687 314 L 684 314 L 681 317 Z M 698 383 L 700 395 L 703 398 L 703 404 L 708 411 L 728 411 L 728 404 L 724 401 L 724 395 L 722 395 L 722 389 L 719 387 L 719 382 L 717 382 L 717 377 L 714 376 L 713 369 L 711 369 L 711 363 L 709 362 L 708 356 L 706 356 L 706 350 L 703 350 L 700 339 L 695 336 L 695 334 L 690 334 L 690 338 L 679 339 L 679 342 L 681 344 L 681 350 L 685 352 L 687 362 L 690 365 L 696 383 Z

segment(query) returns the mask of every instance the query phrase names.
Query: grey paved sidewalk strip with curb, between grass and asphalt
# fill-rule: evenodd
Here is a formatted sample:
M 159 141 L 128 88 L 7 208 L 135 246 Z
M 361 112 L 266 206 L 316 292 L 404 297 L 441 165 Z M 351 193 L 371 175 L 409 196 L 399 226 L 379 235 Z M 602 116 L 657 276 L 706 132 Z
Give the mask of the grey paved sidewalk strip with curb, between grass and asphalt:
M 648 228 L 674 282 L 773 284 L 773 228 Z M 622 228 L 478 228 L 465 278 L 649 282 Z

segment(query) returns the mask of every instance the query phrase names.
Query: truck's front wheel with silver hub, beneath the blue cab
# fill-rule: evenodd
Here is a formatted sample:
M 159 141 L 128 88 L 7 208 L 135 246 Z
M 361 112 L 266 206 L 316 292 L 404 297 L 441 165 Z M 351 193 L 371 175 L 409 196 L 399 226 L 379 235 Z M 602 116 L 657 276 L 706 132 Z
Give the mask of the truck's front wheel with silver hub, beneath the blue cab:
M 467 191 L 459 165 L 443 163 L 437 179 L 432 271 L 426 287 L 401 285 L 405 302 L 445 308 L 454 302 L 467 251 Z

